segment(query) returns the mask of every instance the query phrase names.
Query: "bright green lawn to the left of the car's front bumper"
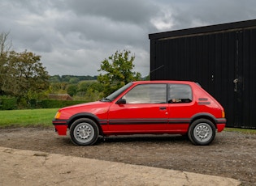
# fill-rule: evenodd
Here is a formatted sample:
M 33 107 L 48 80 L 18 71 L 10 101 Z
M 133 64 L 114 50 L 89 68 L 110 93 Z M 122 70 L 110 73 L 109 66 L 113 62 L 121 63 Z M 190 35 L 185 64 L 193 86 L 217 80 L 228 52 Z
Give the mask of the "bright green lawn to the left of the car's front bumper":
M 51 126 L 57 108 L 0 111 L 0 127 Z

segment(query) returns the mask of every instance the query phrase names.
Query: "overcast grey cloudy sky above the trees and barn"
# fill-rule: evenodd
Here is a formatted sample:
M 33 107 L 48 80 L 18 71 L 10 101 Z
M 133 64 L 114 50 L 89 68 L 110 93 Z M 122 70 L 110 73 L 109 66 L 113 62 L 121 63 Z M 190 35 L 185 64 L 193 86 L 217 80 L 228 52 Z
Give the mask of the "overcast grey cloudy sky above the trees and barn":
M 41 56 L 50 75 L 98 75 L 115 51 L 150 72 L 149 34 L 256 19 L 255 0 L 1 0 L 0 32 Z

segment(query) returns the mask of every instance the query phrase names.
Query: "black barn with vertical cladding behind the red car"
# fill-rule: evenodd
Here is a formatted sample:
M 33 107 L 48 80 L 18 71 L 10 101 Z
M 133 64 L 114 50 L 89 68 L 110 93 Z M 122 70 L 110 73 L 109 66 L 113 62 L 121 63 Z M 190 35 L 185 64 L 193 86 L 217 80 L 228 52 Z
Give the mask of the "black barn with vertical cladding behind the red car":
M 256 128 L 256 19 L 150 34 L 150 79 L 199 82 L 228 127 Z

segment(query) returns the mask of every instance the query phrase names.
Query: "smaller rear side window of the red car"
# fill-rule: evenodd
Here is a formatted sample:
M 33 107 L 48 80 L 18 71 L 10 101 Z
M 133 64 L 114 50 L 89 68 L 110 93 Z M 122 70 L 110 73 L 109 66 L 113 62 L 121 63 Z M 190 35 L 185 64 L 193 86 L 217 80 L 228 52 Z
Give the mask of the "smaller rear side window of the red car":
M 169 84 L 168 86 L 168 103 L 190 103 L 192 101 L 192 90 L 189 85 Z

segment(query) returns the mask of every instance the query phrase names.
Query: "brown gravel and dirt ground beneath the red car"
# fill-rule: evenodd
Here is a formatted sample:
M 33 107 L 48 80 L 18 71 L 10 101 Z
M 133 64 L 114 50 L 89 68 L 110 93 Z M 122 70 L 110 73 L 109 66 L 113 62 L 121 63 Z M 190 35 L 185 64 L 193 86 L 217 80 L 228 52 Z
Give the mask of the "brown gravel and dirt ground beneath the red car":
M 242 185 L 256 183 L 255 134 L 217 133 L 210 146 L 193 146 L 186 137 L 173 135 L 107 137 L 95 146 L 74 146 L 53 128 L 17 128 L 0 129 L 0 146 L 220 175 Z

